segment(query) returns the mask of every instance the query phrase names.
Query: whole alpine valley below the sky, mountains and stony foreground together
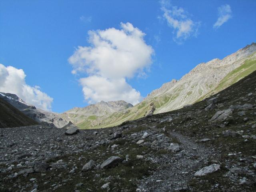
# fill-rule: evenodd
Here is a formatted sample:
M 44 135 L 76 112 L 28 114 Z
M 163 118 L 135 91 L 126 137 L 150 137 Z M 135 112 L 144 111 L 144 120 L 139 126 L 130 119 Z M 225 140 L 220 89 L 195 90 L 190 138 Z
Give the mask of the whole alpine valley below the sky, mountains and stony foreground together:
M 2 192 L 255 192 L 256 44 L 125 101 L 47 112 L 0 93 Z

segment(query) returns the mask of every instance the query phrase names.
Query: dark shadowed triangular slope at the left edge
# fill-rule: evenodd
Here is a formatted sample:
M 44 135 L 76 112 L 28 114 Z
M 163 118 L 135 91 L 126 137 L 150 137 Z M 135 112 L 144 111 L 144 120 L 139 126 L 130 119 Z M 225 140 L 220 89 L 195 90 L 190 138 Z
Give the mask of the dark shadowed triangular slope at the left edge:
M 0 128 L 38 124 L 14 106 L 0 98 Z

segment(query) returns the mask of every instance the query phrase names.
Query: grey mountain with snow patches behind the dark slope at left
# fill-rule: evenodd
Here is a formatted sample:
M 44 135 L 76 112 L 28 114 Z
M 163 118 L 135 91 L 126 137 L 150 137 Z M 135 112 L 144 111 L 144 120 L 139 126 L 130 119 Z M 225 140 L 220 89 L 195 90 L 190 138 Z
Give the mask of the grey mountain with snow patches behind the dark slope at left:
M 27 104 L 24 100 L 19 98 L 15 94 L 0 92 L 0 98 L 32 118 L 36 122 L 46 122 L 48 124 L 54 124 L 56 127 L 61 128 L 68 122 L 60 117 L 58 113 L 47 112 Z

